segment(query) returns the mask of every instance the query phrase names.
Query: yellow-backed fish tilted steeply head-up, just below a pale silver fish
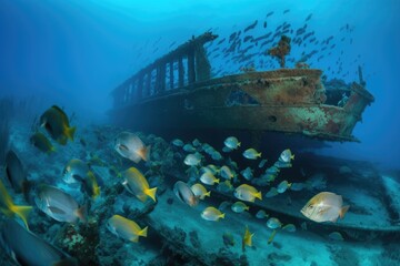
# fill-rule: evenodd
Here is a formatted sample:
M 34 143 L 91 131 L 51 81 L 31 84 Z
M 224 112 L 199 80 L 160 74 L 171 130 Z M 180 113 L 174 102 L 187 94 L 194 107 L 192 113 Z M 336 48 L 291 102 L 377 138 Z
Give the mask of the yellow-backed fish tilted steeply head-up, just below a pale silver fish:
M 130 167 L 122 172 L 122 185 L 141 202 L 151 197 L 156 202 L 157 187 L 150 188 L 144 175 L 136 167 Z

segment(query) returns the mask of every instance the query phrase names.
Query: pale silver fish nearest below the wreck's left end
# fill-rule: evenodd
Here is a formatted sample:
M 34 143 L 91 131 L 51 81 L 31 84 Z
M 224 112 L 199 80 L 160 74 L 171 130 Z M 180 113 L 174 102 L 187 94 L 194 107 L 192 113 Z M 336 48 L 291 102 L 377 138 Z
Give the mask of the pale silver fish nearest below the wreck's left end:
M 119 133 L 114 139 L 114 150 L 134 163 L 139 163 L 140 160 L 148 161 L 150 154 L 150 146 L 144 146 L 138 135 L 127 131 Z

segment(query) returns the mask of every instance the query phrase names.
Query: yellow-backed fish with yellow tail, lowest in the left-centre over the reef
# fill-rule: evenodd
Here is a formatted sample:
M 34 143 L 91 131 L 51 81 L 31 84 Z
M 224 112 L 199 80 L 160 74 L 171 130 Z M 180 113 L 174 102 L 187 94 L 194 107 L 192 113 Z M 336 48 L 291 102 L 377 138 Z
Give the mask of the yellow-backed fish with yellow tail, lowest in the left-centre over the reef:
M 147 237 L 148 234 L 148 226 L 140 228 L 137 223 L 120 215 L 109 218 L 107 228 L 116 236 L 134 243 L 139 242 L 139 236 Z

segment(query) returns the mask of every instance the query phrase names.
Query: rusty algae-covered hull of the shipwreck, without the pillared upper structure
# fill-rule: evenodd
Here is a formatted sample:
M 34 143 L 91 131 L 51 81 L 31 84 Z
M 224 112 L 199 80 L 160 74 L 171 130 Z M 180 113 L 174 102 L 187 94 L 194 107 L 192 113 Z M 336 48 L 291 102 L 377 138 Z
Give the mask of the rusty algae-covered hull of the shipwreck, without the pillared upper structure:
M 326 104 L 320 75 L 320 70 L 282 69 L 211 79 L 128 101 L 111 115 L 134 129 L 277 131 L 357 141 L 352 130 L 372 95 L 353 83 L 343 106 Z

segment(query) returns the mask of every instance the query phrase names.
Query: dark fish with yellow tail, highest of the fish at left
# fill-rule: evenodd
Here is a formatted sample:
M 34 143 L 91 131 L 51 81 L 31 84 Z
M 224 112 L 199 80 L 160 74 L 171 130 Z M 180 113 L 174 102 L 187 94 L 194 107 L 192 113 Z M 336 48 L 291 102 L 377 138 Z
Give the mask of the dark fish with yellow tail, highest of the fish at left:
M 76 126 L 71 127 L 67 114 L 57 105 L 52 105 L 40 116 L 40 125 L 61 145 L 73 141 Z

